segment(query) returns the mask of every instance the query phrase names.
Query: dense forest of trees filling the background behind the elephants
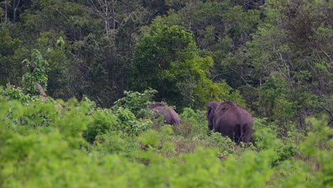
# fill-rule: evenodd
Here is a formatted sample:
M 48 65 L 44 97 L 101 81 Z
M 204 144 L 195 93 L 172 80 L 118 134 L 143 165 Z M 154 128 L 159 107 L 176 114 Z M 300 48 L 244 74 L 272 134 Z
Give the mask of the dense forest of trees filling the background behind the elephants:
M 21 62 L 38 49 L 53 98 L 110 108 L 149 86 L 178 109 L 245 98 L 279 137 L 332 112 L 330 1 L 112 2 L 2 2 L 0 84 L 34 90 Z

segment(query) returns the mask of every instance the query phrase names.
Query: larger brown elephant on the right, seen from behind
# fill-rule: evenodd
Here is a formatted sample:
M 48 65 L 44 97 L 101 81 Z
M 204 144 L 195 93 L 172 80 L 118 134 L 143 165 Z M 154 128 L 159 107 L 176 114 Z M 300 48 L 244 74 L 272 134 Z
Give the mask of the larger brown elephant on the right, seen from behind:
M 244 108 L 231 101 L 210 102 L 207 110 L 208 128 L 228 136 L 231 140 L 250 141 L 253 118 Z

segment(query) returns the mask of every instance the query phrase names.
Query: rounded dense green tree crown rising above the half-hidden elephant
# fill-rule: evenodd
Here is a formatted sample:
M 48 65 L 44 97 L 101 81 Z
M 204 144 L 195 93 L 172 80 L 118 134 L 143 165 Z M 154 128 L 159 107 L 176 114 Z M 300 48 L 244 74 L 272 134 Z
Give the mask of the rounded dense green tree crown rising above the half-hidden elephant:
M 152 26 L 137 47 L 137 61 L 133 70 L 132 84 L 134 88 L 141 90 L 147 87 L 157 89 L 159 91 L 157 100 L 162 100 L 166 96 L 179 100 L 182 98 L 180 85 L 178 86 L 176 83 L 184 82 L 187 79 L 194 80 L 191 64 L 196 61 L 192 63 L 186 63 L 186 61 L 191 61 L 195 57 L 196 45 L 191 33 L 179 26 L 170 28 Z M 204 66 L 206 63 L 201 64 Z M 207 66 L 209 63 L 212 62 L 208 62 Z M 161 85 L 160 83 L 166 84 Z M 191 85 L 186 86 L 189 88 Z M 193 93 L 194 88 L 196 85 L 189 88 L 187 92 Z

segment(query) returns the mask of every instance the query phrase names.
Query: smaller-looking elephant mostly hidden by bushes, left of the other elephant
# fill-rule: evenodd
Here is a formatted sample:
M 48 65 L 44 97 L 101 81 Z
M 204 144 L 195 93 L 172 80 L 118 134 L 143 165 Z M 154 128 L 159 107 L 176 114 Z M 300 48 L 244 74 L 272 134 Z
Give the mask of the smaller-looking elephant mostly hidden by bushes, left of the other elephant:
M 155 117 L 164 115 L 164 123 L 169 125 L 180 125 L 179 115 L 164 103 L 155 103 L 154 105 L 149 106 L 149 110 L 156 111 Z

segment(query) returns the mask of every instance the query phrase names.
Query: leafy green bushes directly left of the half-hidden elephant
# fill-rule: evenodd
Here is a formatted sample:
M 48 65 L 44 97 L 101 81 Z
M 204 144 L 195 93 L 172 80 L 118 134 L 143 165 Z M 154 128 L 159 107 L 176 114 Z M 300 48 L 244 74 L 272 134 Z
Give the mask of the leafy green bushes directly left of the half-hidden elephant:
M 139 118 L 149 116 L 148 106 L 156 90 L 145 90 L 144 93 L 125 91 L 125 97 L 117 100 L 112 110 L 96 109 L 96 105 L 88 98 L 83 98 L 93 109 L 93 122 L 84 132 L 85 139 L 93 143 L 97 135 L 107 132 L 122 131 L 128 135 L 139 135 L 152 127 L 152 121 Z

